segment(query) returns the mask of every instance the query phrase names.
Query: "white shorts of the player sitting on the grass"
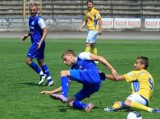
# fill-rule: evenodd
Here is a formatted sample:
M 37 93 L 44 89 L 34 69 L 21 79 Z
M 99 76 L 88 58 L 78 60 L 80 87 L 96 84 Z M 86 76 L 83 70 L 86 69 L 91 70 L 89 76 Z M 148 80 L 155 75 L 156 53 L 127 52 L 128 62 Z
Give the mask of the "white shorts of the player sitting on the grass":
M 142 98 L 139 94 L 137 93 L 134 93 L 134 94 L 131 94 L 127 97 L 127 99 L 133 101 L 133 102 L 137 102 L 137 103 L 140 103 L 142 105 L 147 105 L 147 100 L 145 100 L 144 98 Z

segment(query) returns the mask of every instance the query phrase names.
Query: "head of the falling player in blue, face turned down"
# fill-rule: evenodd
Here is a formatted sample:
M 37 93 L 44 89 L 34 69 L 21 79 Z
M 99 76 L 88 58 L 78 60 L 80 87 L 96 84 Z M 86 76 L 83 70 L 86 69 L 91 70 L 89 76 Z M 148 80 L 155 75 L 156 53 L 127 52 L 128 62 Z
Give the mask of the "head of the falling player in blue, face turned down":
M 73 50 L 71 49 L 68 49 L 66 52 L 64 52 L 62 54 L 62 59 L 64 61 L 64 64 L 66 65 L 72 65 L 74 62 L 75 62 L 75 59 L 76 59 L 76 54 Z

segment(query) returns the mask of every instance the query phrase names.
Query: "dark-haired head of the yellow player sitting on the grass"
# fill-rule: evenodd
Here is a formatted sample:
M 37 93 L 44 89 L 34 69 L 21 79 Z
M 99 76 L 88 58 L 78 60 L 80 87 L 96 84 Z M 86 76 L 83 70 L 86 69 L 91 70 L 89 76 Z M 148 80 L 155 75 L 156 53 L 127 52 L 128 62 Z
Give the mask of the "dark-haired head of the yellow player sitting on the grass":
M 134 63 L 134 67 L 136 70 L 146 69 L 149 66 L 148 58 L 145 56 L 139 56 Z

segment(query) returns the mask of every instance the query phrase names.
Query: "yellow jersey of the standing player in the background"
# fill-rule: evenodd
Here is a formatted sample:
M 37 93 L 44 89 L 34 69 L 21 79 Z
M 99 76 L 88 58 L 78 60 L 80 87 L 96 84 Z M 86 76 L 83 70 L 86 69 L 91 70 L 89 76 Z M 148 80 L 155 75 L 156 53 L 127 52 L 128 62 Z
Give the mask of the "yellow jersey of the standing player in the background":
M 98 20 L 101 19 L 100 13 L 98 10 L 92 8 L 85 12 L 85 20 L 87 22 L 87 28 L 89 30 L 98 30 Z

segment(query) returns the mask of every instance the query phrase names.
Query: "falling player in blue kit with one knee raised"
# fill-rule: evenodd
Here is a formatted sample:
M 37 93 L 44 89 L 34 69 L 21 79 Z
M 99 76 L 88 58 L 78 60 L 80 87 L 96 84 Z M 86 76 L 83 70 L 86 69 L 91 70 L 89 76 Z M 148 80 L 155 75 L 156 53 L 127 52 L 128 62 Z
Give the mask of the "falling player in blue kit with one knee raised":
M 74 51 L 69 49 L 62 54 L 62 59 L 64 64 L 71 66 L 71 69 L 61 71 L 60 90 L 62 90 L 62 94 L 51 94 L 51 98 L 67 102 L 70 107 L 84 109 L 86 112 L 90 112 L 94 105 L 92 103 L 83 103 L 81 100 L 89 98 L 90 95 L 97 92 L 100 88 L 101 81 L 105 79 L 105 74 L 100 72 L 94 61 L 101 62 L 114 76 L 116 76 L 116 71 L 102 56 L 97 56 L 90 52 L 82 52 L 76 56 Z M 83 84 L 83 88 L 68 99 L 70 80 Z

